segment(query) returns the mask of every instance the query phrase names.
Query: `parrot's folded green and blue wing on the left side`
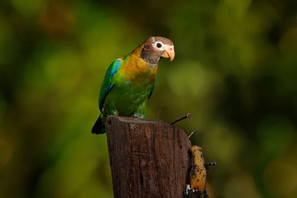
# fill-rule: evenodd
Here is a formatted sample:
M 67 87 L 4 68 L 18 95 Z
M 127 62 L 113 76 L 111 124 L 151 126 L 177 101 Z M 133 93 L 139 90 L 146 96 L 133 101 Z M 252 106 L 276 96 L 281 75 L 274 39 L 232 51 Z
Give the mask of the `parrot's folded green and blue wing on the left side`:
M 123 57 L 122 57 L 123 58 Z M 111 77 L 117 72 L 117 69 L 119 68 L 122 58 L 115 59 L 108 67 L 106 70 L 102 85 L 101 85 L 101 90 L 100 90 L 100 96 L 99 96 L 99 109 L 100 111 L 102 110 L 102 106 L 104 103 L 104 100 L 110 91 L 112 87 L 112 82 L 111 82 Z

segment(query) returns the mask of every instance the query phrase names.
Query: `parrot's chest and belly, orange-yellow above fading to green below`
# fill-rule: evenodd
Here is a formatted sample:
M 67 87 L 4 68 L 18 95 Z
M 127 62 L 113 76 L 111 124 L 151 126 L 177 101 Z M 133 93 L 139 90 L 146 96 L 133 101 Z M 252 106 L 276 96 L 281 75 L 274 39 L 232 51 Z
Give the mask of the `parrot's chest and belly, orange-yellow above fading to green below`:
M 114 85 L 105 105 L 118 115 L 138 113 L 138 116 L 143 116 L 148 96 L 153 90 L 157 68 L 149 67 L 148 63 L 137 58 L 130 57 L 112 78 Z

